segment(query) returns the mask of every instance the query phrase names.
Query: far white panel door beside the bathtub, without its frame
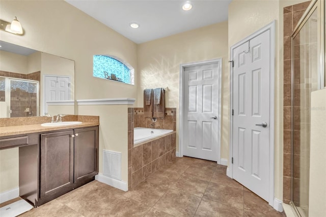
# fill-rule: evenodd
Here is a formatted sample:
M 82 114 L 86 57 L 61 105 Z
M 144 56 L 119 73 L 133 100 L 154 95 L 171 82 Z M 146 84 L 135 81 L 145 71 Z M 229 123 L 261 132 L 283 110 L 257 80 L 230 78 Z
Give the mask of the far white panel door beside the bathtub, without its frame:
M 218 160 L 219 64 L 184 68 L 183 155 Z

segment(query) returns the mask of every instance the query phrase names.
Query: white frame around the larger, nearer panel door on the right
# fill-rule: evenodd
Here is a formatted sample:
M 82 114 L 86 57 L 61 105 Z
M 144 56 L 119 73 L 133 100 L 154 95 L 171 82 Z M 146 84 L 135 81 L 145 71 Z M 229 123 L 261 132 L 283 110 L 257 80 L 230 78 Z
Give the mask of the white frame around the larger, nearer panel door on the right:
M 279 201 L 274 202 L 274 97 L 275 97 L 275 20 L 269 23 L 268 25 L 264 26 L 257 32 L 251 34 L 250 36 L 242 39 L 241 41 L 237 42 L 233 46 L 230 47 L 230 60 L 233 61 L 233 49 L 240 46 L 243 43 L 257 37 L 258 35 L 266 32 L 269 32 L 270 36 L 270 65 L 269 65 L 269 103 L 270 103 L 270 110 L 269 110 L 269 199 L 268 204 L 273 206 L 275 209 L 278 209 Z M 233 64 L 233 62 L 231 62 Z M 229 148 L 229 159 L 232 159 L 233 156 L 233 116 L 232 116 L 232 109 L 233 109 L 233 67 L 230 66 L 230 148 Z M 230 160 L 231 162 L 231 160 Z M 233 165 L 232 163 L 228 166 L 227 169 L 227 176 L 233 178 Z

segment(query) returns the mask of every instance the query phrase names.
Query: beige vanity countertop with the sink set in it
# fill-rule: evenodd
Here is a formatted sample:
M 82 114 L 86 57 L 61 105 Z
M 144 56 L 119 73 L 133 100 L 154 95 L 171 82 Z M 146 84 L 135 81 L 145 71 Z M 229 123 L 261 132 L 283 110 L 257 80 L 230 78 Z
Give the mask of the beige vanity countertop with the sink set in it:
M 52 130 L 62 130 L 62 129 L 76 129 L 76 128 L 84 128 L 91 126 L 98 126 L 98 123 L 95 122 L 83 122 L 81 124 L 76 125 L 68 125 L 68 126 L 41 126 L 41 124 L 30 124 L 30 125 L 17 125 L 17 126 L 4 126 L 0 127 L 0 137 L 5 137 L 9 135 L 20 135 L 26 133 L 34 133 L 34 132 L 46 132 Z

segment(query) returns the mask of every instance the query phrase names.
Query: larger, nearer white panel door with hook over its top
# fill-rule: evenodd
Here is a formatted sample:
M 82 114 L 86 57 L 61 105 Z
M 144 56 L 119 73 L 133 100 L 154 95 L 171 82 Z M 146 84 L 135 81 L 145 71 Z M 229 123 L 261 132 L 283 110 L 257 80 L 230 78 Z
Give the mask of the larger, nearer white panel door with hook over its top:
M 266 201 L 273 184 L 269 183 L 269 32 L 233 49 L 233 178 Z

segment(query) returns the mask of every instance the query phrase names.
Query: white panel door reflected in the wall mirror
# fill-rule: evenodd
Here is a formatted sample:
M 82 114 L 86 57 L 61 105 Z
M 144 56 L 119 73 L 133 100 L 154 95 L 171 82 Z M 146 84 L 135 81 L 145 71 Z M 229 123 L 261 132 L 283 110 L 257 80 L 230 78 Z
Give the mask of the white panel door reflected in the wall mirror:
M 46 101 L 48 102 L 69 100 L 69 83 L 69 77 L 46 76 Z

